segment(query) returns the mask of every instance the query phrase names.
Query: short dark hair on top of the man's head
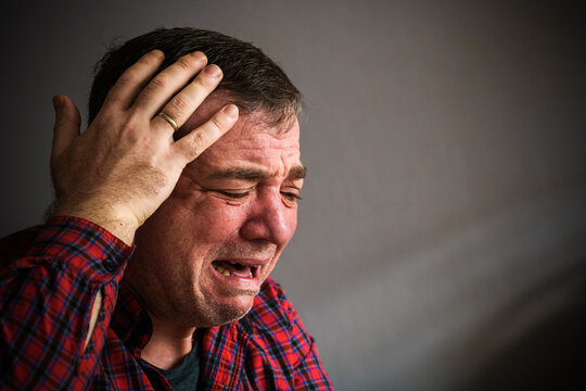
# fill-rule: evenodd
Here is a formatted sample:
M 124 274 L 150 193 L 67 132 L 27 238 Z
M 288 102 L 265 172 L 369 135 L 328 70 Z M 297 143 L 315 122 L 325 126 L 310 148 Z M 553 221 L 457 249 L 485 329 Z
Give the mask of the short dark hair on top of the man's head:
M 218 65 L 224 78 L 216 91 L 227 91 L 242 114 L 264 110 L 276 126 L 301 112 L 302 96 L 283 70 L 250 42 L 198 28 L 160 28 L 114 46 L 95 64 L 88 104 L 91 123 L 118 77 L 143 54 L 160 49 L 162 68 L 181 55 L 202 51 L 209 64 Z

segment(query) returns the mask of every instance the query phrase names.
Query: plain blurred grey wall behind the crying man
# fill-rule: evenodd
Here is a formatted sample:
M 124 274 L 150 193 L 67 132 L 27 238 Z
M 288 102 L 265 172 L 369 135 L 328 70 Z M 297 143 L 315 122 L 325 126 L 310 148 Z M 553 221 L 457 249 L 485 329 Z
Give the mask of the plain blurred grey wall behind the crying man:
M 51 97 L 113 41 L 216 29 L 305 96 L 276 277 L 337 390 L 586 389 L 583 2 L 52 1 L 0 16 L 0 236 L 51 200 Z

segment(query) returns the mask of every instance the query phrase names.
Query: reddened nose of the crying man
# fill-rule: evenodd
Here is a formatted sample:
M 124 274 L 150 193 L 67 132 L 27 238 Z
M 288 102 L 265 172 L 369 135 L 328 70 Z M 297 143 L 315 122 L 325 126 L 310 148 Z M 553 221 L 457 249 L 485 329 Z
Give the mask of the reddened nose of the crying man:
M 247 240 L 286 244 L 297 226 L 297 210 L 286 207 L 279 191 L 258 192 L 253 202 L 240 235 Z

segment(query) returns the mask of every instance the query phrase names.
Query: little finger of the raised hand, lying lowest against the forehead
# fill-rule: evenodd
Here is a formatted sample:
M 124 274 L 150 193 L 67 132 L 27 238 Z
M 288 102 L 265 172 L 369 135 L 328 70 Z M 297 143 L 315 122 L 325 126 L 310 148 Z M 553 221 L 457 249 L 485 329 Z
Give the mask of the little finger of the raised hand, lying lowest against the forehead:
M 214 114 L 208 122 L 175 142 L 173 148 L 184 156 L 188 164 L 230 130 L 237 121 L 238 108 L 234 104 L 228 104 Z

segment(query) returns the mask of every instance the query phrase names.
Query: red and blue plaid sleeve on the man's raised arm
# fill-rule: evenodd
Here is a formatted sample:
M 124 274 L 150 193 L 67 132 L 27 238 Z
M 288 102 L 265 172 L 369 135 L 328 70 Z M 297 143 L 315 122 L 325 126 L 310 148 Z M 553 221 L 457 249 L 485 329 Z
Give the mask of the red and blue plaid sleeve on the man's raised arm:
M 99 361 L 132 248 L 80 218 L 0 240 L 0 389 L 82 390 Z M 102 293 L 88 337 L 91 306 Z

